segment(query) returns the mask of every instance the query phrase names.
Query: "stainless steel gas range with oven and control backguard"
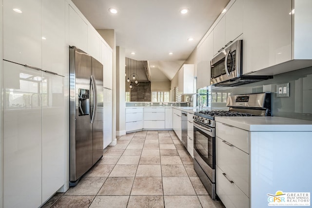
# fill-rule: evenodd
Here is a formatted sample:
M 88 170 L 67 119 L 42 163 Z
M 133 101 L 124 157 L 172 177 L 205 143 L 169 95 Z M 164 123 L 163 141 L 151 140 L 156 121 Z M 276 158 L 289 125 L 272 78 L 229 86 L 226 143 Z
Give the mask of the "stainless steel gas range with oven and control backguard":
M 215 116 L 270 116 L 271 94 L 231 95 L 229 111 L 200 111 L 194 115 L 194 169 L 215 199 Z

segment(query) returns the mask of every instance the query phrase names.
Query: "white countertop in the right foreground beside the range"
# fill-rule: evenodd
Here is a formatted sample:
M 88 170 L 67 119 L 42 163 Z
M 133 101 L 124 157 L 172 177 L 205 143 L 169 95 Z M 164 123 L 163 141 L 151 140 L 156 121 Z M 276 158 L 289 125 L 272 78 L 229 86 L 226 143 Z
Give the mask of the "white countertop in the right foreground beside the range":
M 312 132 L 312 121 L 274 116 L 226 117 L 215 121 L 254 132 Z

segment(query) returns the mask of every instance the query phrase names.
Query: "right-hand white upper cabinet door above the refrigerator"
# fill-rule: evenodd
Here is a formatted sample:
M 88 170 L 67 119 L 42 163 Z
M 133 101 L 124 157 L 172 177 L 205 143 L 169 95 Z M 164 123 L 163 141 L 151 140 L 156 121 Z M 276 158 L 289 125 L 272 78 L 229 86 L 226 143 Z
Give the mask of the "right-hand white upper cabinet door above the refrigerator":
M 88 54 L 99 61 L 100 50 L 101 44 L 98 32 L 91 25 L 88 25 Z

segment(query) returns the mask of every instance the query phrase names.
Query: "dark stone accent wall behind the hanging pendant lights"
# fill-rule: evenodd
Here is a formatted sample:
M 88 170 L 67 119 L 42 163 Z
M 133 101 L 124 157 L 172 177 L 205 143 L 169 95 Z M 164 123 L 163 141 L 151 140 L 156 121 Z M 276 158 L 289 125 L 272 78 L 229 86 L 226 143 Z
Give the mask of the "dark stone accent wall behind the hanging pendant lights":
M 151 102 L 151 82 L 139 82 L 130 92 L 130 101 Z

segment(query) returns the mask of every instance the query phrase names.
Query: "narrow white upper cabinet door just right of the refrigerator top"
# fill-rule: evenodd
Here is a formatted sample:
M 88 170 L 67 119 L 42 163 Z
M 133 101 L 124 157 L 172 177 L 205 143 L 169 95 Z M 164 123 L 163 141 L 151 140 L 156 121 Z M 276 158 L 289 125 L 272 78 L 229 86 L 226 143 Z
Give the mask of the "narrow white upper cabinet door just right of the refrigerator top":
M 112 49 L 101 41 L 101 62 L 103 64 L 103 86 L 113 89 L 113 52 Z

